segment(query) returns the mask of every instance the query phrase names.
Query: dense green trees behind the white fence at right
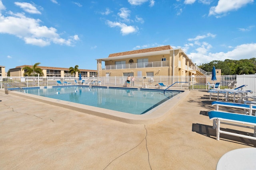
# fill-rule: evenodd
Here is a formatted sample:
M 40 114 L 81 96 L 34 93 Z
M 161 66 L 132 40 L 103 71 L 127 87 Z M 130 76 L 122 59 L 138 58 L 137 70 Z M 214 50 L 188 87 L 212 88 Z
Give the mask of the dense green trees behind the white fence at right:
M 221 75 L 255 74 L 256 58 L 241 60 L 226 59 L 224 61 L 215 60 L 210 63 L 201 64 L 198 67 L 210 72 L 213 66 L 215 66 L 216 69 L 221 69 Z

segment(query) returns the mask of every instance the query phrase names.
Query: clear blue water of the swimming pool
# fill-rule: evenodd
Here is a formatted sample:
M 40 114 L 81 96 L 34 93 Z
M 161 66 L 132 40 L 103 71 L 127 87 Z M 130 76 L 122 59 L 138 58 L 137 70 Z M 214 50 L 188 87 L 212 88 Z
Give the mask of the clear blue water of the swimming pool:
M 111 109 L 132 114 L 143 114 L 176 96 L 180 91 L 132 90 L 88 86 L 61 86 L 24 89 L 25 93 Z

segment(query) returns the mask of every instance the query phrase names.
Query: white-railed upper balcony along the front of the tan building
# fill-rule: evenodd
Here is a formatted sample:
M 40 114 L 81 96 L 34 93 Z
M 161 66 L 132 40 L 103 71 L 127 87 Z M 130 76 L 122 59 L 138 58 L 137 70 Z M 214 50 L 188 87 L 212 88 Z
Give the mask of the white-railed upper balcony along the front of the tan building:
M 146 63 L 132 63 L 132 64 L 116 64 L 107 65 L 105 70 L 129 69 L 129 68 L 151 68 L 151 67 L 168 67 L 169 61 L 155 61 Z

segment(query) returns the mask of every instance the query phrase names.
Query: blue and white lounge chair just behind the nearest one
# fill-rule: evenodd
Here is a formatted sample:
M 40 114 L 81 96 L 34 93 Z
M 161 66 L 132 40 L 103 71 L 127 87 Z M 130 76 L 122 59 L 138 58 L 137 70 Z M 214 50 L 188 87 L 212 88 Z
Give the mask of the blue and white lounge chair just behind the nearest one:
M 232 102 L 219 102 L 219 101 L 214 101 L 212 102 L 212 106 L 215 105 L 215 110 L 219 110 L 219 106 L 224 106 L 224 107 L 232 107 L 232 108 L 237 108 L 237 109 L 244 109 L 249 110 L 249 115 L 252 115 L 252 111 L 256 110 L 256 105 L 255 104 L 240 104 L 240 103 L 232 103 Z

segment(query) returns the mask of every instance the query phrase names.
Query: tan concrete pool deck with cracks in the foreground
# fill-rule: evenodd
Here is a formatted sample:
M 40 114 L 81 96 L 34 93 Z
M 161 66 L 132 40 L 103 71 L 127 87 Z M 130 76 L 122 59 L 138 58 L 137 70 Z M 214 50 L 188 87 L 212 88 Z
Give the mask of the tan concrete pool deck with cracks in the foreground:
M 136 125 L 0 90 L 0 169 L 214 170 L 223 154 L 255 141 L 223 134 L 217 141 L 206 95 L 190 91 L 164 120 Z

